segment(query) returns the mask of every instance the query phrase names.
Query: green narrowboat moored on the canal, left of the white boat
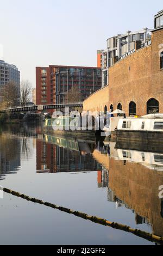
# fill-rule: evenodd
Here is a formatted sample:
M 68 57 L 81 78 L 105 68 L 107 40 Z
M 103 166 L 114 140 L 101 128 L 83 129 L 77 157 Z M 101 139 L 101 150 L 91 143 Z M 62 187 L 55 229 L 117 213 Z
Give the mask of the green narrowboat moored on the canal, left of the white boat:
M 44 131 L 55 135 L 77 136 L 81 138 L 95 139 L 95 126 L 90 124 L 82 124 L 82 118 L 77 117 L 57 117 L 45 120 Z

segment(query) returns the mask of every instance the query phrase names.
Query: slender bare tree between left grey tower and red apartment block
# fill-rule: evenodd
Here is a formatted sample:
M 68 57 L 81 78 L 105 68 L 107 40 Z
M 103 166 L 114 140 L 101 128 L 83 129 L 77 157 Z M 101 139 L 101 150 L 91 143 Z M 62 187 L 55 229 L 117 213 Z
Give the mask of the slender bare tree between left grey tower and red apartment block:
M 28 80 L 21 81 L 20 104 L 26 106 L 27 102 L 32 100 L 32 86 Z

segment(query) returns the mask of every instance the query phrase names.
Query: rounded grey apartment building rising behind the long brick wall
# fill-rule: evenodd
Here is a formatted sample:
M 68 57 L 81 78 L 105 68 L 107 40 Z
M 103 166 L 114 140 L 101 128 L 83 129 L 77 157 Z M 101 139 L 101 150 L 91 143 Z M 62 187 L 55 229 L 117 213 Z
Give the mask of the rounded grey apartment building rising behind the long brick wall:
M 123 58 L 127 53 L 134 52 L 135 42 L 141 41 L 146 43 L 151 40 L 151 30 L 143 28 L 141 31 L 131 32 L 126 34 L 118 34 L 112 36 L 106 41 L 106 50 L 101 51 L 102 54 L 102 87 L 106 86 L 109 81 L 110 66 L 114 65 L 118 60 Z M 97 61 L 99 63 L 99 51 L 97 52 Z

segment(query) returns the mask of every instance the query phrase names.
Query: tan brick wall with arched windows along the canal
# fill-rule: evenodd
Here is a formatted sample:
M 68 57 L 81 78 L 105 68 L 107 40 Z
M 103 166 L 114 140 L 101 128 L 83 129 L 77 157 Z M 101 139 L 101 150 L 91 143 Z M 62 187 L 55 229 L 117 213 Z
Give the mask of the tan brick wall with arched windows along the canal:
M 136 113 L 147 114 L 147 101 L 159 101 L 159 112 L 163 113 L 163 70 L 160 69 L 160 44 L 163 51 L 163 29 L 152 33 L 152 45 L 115 63 L 109 68 L 109 86 L 99 90 L 84 102 L 84 110 L 104 111 L 104 106 L 117 108 L 129 114 L 129 103 L 136 103 Z M 106 95 L 108 94 L 108 95 Z

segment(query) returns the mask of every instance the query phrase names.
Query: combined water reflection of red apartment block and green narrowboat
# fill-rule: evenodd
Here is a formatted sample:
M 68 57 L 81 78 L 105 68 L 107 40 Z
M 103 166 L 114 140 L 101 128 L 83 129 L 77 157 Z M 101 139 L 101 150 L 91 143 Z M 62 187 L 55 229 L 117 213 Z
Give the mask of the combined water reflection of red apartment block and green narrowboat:
M 91 155 L 95 143 L 75 138 L 45 135 L 36 143 L 37 173 L 87 172 L 102 170 Z

